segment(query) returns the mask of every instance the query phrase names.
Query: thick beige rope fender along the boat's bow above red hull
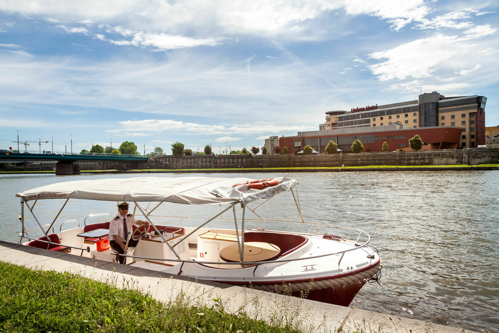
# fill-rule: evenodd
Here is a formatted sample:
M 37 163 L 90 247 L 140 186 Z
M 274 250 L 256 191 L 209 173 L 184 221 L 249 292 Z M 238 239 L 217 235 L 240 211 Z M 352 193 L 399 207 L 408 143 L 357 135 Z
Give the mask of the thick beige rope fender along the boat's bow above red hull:
M 262 290 L 264 292 L 282 291 L 286 288 L 291 288 L 293 292 L 300 292 L 306 290 L 320 290 L 327 288 L 335 288 L 346 285 L 353 285 L 359 283 L 363 280 L 369 280 L 383 268 L 383 263 L 381 259 L 378 265 L 371 267 L 365 271 L 354 273 L 340 278 L 324 279 L 324 280 L 314 280 L 310 282 L 294 282 L 279 285 L 252 285 L 256 290 Z

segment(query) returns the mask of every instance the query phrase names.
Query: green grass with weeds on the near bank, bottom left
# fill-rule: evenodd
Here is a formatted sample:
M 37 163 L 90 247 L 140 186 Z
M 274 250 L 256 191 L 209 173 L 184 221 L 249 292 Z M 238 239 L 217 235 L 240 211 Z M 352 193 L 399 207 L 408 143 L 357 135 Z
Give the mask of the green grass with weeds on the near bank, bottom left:
M 296 321 L 271 326 L 215 304 L 163 304 L 137 290 L 0 262 L 0 332 L 303 332 Z

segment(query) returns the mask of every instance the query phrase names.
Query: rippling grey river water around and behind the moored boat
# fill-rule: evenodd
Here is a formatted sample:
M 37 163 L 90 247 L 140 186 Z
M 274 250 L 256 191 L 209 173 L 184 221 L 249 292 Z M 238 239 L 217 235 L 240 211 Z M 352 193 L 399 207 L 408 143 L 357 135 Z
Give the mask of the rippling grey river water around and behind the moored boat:
M 17 220 L 20 205 L 14 196 L 16 192 L 62 181 L 136 176 L 0 175 L 0 193 L 3 193 L 0 239 L 18 242 L 16 235 L 21 226 Z M 272 178 L 278 175 L 148 176 Z M 352 306 L 467 330 L 499 332 L 499 172 L 316 172 L 286 176 L 299 182 L 299 199 L 306 221 L 362 229 L 371 235 L 370 244 L 379 250 L 385 265 L 381 285 L 366 284 Z M 34 208 L 35 214 L 43 224 L 50 223 L 62 203 L 62 200 L 40 200 Z M 89 214 L 115 212 L 115 205 L 70 200 L 58 221 L 76 219 L 82 223 Z M 155 214 L 185 216 L 183 225 L 195 226 L 215 215 L 218 209 L 218 206 L 165 203 Z M 299 220 L 289 194 L 277 196 L 258 211 L 268 219 Z M 26 228 L 37 226 L 28 214 Z M 216 227 L 219 222 L 212 222 L 211 226 Z M 233 223 L 222 220 L 220 225 L 234 227 Z M 305 231 L 301 227 L 265 224 L 266 229 Z M 314 231 L 342 235 L 338 229 Z

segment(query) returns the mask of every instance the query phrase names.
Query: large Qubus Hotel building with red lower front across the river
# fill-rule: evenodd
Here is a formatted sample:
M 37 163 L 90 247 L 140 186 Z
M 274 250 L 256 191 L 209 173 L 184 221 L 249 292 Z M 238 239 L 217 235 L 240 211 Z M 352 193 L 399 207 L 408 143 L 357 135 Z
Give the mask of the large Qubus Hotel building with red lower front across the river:
M 407 102 L 328 111 L 325 126 L 321 124 L 324 130 L 281 137 L 279 145 L 289 153 L 306 145 L 324 153 L 329 140 L 348 151 L 359 139 L 370 151 L 381 151 L 384 141 L 390 150 L 410 150 L 409 139 L 419 134 L 424 150 L 474 148 L 485 144 L 486 102 L 484 96 L 445 97 L 433 91 Z

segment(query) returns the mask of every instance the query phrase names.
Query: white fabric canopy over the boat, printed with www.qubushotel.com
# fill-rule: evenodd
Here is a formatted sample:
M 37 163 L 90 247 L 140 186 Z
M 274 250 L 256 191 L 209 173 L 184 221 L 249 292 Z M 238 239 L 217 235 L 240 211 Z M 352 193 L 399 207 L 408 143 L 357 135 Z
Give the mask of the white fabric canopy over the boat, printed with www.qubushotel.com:
M 17 193 L 23 201 L 41 199 L 86 199 L 103 201 L 167 201 L 187 205 L 223 205 L 270 198 L 288 191 L 298 182 L 287 177 L 275 178 L 279 184 L 262 190 L 247 190 L 235 184 L 251 178 L 216 177 L 134 177 L 75 180 L 55 183 Z

